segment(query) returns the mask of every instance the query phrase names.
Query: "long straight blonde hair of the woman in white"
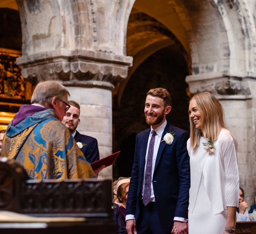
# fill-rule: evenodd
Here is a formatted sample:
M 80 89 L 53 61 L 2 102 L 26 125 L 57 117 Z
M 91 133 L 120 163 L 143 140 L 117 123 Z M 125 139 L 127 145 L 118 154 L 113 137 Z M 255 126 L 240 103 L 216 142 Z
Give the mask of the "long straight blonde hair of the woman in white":
M 224 123 L 224 110 L 221 103 L 214 95 L 208 92 L 195 94 L 191 99 L 195 100 L 199 111 L 203 114 L 202 129 L 197 129 L 193 121 L 190 121 L 190 149 L 199 145 L 200 136 L 217 140 Z

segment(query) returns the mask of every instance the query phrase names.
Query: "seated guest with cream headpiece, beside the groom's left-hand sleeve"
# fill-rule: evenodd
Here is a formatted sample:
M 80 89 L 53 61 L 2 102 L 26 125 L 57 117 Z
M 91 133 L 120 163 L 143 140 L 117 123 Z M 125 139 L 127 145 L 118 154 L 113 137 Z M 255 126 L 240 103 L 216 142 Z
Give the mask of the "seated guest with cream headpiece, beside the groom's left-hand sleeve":
M 125 221 L 126 212 L 126 202 L 129 190 L 130 178 L 120 177 L 116 183 L 116 189 L 114 189 L 114 199 L 118 198 L 118 205 L 120 207 L 120 212 Z M 114 202 L 114 201 L 113 201 Z

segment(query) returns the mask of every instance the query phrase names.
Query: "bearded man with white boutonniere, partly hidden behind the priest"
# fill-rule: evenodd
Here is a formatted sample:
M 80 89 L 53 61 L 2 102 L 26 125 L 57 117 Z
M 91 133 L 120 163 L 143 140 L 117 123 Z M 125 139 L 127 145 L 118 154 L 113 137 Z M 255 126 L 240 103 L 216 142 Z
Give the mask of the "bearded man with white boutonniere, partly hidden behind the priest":
M 92 163 L 99 160 L 98 142 L 91 136 L 80 134 L 76 129 L 80 123 L 80 106 L 76 101 L 68 101 L 70 108 L 66 111 L 62 123 L 71 132 L 76 140 L 78 147 L 84 153 L 88 162 Z

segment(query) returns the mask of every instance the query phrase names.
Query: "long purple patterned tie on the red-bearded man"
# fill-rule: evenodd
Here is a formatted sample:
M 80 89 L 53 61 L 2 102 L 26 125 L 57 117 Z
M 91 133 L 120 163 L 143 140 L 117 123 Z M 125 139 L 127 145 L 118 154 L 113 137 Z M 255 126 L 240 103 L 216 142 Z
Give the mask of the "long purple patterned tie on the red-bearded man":
M 152 130 L 151 134 L 152 136 L 149 142 L 149 151 L 147 152 L 145 184 L 144 184 L 144 192 L 143 192 L 143 198 L 142 198 L 142 202 L 145 206 L 150 202 L 150 196 L 151 196 L 152 159 L 153 159 L 156 132 Z

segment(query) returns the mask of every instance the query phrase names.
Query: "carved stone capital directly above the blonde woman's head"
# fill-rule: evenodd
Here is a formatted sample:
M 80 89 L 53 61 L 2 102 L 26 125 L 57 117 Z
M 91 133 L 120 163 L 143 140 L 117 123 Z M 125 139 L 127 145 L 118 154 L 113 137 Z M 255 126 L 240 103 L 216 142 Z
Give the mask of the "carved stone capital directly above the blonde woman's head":
M 252 99 L 249 80 L 256 75 L 248 72 L 230 71 L 190 75 L 186 77 L 189 84 L 189 96 L 200 92 L 209 92 L 218 99 Z

